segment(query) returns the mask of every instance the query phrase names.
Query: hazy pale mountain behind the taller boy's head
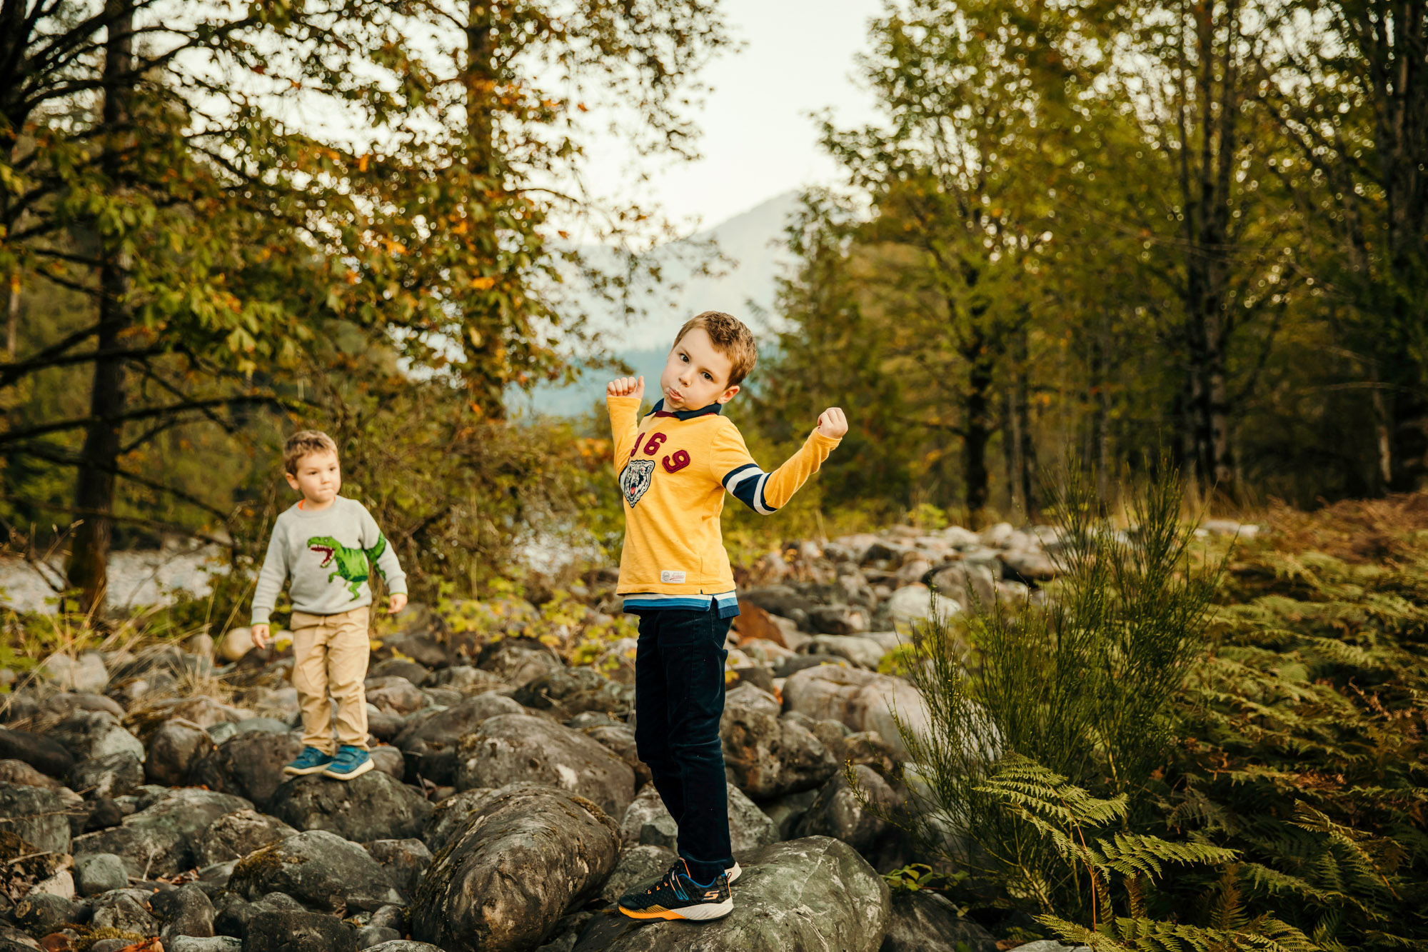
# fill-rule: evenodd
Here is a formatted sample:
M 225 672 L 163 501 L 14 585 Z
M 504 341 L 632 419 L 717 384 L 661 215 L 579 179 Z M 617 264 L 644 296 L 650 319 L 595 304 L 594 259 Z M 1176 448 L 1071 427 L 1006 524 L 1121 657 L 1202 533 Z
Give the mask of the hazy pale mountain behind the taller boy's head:
M 674 287 L 660 289 L 653 297 L 658 303 L 644 317 L 625 323 L 604 302 L 590 297 L 585 313 L 591 324 L 615 342 L 611 347 L 615 357 L 644 375 L 647 393 L 658 383 L 674 333 L 701 310 L 728 312 L 747 323 L 760 343 L 768 339 L 777 279 L 793 263 L 784 227 L 797 207 L 798 193 L 785 192 L 690 239 L 650 252 L 664 283 Z M 728 260 L 713 264 L 713 270 L 721 272 L 717 276 L 691 277 L 691 259 L 700 257 L 697 246 L 710 239 Z M 598 249 L 587 257 L 598 262 Z M 511 407 L 551 416 L 587 413 L 604 402 L 608 376 L 604 370 L 585 372 L 570 386 L 538 386 L 530 395 L 514 395 Z

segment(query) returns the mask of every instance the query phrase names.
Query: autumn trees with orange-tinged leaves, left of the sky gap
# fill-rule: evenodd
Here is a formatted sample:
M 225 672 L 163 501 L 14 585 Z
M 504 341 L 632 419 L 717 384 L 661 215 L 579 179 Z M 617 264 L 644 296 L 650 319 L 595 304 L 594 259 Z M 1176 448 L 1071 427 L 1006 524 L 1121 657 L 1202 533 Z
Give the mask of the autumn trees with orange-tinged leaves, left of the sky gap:
M 11 547 L 67 549 L 81 608 L 116 532 L 251 550 L 300 425 L 437 577 L 587 505 L 568 426 L 504 425 L 598 357 L 564 279 L 641 277 L 647 212 L 580 187 L 583 117 L 693 154 L 728 41 L 714 0 L 0 3 Z

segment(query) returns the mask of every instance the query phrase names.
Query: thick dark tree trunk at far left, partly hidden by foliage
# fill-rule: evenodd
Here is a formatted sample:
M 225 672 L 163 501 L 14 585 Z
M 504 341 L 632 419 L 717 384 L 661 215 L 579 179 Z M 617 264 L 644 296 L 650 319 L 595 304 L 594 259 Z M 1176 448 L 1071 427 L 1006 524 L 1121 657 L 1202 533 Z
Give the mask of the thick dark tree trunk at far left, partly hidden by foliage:
M 131 81 L 133 61 L 133 0 L 109 0 L 114 16 L 104 43 L 104 107 L 103 123 L 110 137 L 106 146 L 104 169 L 114 189 L 120 189 L 123 157 L 119 132 L 127 113 L 127 84 Z M 129 330 L 129 260 L 117 250 L 101 252 L 99 269 L 99 333 L 96 349 L 111 353 L 121 347 Z M 74 510 L 81 520 L 74 532 L 69 563 L 69 583 L 80 590 L 80 608 L 86 612 L 103 605 L 109 586 L 109 550 L 113 536 L 114 470 L 119 466 L 120 436 L 124 425 L 124 362 L 121 357 L 100 357 L 94 362 L 94 382 L 90 389 L 91 423 L 84 432 L 80 450 L 79 476 L 74 485 Z

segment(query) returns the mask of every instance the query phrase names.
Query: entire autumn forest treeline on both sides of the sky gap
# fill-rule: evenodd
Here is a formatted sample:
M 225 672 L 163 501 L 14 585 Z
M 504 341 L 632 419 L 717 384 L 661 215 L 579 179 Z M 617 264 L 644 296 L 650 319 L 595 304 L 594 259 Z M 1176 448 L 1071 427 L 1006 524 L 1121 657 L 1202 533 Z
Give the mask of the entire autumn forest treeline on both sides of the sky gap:
M 610 529 L 598 417 L 506 405 L 608 353 L 570 276 L 658 277 L 591 130 L 694 154 L 731 43 L 717 0 L 0 1 L 11 547 L 81 605 L 116 539 L 251 549 L 297 425 L 433 579 Z M 1428 0 L 904 0 L 857 69 L 738 410 L 775 452 L 848 409 L 827 503 L 1035 513 L 1067 452 L 1108 500 L 1162 449 L 1231 506 L 1428 479 Z

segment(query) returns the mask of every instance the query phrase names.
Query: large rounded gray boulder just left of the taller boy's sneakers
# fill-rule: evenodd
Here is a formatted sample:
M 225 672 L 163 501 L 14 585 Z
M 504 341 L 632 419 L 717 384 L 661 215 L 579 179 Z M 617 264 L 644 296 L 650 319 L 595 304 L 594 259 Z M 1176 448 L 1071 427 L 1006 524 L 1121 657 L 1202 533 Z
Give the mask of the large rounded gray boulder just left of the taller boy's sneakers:
M 531 783 L 498 790 L 437 853 L 411 935 L 447 952 L 531 949 L 615 865 L 618 828 L 595 803 Z

